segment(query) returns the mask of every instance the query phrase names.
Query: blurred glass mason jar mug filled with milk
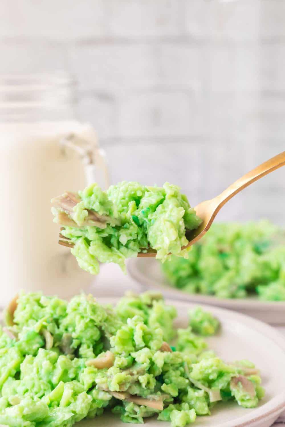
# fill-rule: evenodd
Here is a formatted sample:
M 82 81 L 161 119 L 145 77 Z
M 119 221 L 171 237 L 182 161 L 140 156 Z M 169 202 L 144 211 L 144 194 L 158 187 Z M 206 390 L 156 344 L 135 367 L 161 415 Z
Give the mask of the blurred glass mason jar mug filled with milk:
M 75 120 L 74 82 L 63 73 L 0 76 L 0 306 L 17 292 L 69 298 L 94 277 L 58 245 L 50 199 L 88 181 L 107 186 L 90 124 Z

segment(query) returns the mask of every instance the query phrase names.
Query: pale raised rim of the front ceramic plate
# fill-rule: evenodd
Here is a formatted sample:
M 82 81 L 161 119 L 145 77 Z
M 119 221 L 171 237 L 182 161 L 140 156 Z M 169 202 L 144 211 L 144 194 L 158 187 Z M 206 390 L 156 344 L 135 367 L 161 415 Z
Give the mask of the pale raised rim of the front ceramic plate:
M 102 304 L 114 304 L 116 301 L 118 301 L 118 299 L 120 299 L 120 297 L 98 297 L 97 299 Z M 189 306 L 196 305 L 195 302 L 178 301 L 171 298 L 166 298 L 165 301 L 167 302 L 167 304 L 173 304 L 182 307 L 185 307 L 185 304 Z M 215 307 L 208 304 L 201 304 L 201 307 L 216 313 L 217 317 L 229 317 L 232 320 L 239 321 L 241 324 L 253 328 L 256 332 L 261 332 L 263 336 L 267 337 L 267 339 L 271 339 L 273 342 L 275 342 L 275 344 L 278 345 L 278 347 L 284 352 L 285 357 L 285 338 L 272 326 L 246 314 L 238 313 L 236 311 L 228 310 L 226 308 Z M 254 415 L 253 418 L 251 418 L 251 414 L 248 414 L 249 419 L 246 419 L 239 424 L 235 424 L 235 427 L 246 427 L 258 421 L 266 421 L 267 418 L 273 418 L 275 415 L 277 417 L 280 413 L 283 412 L 284 409 L 285 389 L 283 392 L 279 392 L 276 396 L 270 399 L 270 401 L 258 407 L 256 409 L 256 412 L 258 413 Z M 225 424 L 225 427 L 226 425 L 227 424 Z

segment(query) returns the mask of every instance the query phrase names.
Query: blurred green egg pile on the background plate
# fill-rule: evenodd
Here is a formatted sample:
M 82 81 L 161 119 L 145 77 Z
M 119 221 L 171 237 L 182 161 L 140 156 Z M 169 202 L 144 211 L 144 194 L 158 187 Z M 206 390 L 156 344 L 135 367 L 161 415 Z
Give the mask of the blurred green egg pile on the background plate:
M 285 234 L 268 221 L 213 224 L 188 259 L 162 269 L 175 287 L 220 298 L 285 300 Z

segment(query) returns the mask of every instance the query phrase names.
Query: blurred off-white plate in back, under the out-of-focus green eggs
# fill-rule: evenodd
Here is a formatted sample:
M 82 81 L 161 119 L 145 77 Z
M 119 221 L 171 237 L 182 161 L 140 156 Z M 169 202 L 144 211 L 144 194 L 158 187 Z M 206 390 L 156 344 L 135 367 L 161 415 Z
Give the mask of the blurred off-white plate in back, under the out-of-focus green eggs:
M 285 301 L 259 301 L 256 297 L 244 299 L 217 298 L 215 296 L 190 294 L 171 287 L 162 273 L 159 261 L 155 258 L 132 258 L 127 269 L 135 281 L 143 287 L 159 290 L 166 298 L 190 301 L 196 304 L 210 304 L 217 307 L 236 310 L 271 325 L 285 323 Z

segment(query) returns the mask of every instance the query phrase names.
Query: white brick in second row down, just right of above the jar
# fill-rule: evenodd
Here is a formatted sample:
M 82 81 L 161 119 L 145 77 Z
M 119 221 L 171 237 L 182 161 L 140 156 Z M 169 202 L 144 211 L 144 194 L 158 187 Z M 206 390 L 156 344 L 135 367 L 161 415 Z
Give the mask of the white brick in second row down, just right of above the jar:
M 147 43 L 76 44 L 68 47 L 69 70 L 79 88 L 118 96 L 157 83 L 156 47 Z

